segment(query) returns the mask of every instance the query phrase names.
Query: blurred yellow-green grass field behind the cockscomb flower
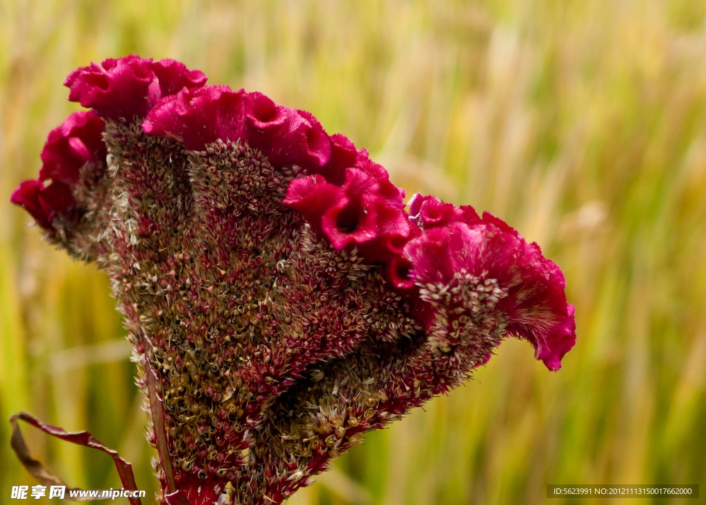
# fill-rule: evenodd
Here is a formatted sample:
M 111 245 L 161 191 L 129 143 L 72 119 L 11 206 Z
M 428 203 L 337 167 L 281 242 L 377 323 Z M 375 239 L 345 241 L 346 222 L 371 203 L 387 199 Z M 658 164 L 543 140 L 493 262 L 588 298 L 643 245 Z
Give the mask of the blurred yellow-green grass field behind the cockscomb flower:
M 563 370 L 507 341 L 290 504 L 543 504 L 546 484 L 577 483 L 705 494 L 705 22 L 702 0 L 0 0 L 0 504 L 35 484 L 7 443 L 20 409 L 90 430 L 154 490 L 106 279 L 8 202 L 76 109 L 65 75 L 133 52 L 311 111 L 408 195 L 488 209 L 566 274 L 578 344 Z M 104 454 L 25 434 L 70 485 L 119 486 Z

